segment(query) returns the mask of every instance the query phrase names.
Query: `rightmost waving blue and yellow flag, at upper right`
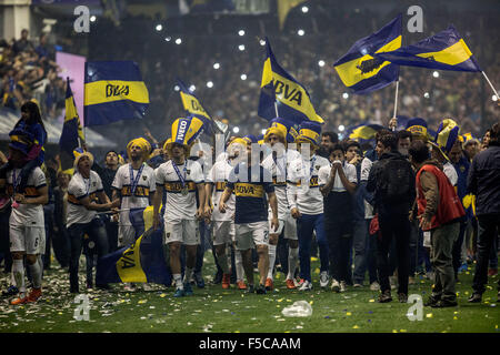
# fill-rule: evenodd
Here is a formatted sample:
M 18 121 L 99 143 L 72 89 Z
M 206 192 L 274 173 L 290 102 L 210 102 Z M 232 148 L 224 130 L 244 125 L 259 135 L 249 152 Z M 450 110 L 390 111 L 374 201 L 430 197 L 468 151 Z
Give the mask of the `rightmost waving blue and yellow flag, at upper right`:
M 438 70 L 481 71 L 476 58 L 453 26 L 416 44 L 378 53 L 380 60 Z

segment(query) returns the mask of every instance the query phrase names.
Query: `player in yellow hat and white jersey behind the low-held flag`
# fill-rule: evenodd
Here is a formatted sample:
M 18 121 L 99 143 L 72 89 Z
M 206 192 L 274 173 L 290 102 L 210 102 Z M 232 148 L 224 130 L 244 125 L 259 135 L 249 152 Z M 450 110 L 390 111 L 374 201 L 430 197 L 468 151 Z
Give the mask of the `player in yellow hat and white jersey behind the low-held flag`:
M 127 246 L 136 242 L 138 236 L 129 214 L 134 209 L 144 209 L 151 204 L 151 194 L 157 185 L 154 170 L 146 164 L 151 150 L 150 143 L 143 138 L 133 139 L 127 144 L 129 163 L 121 165 L 114 175 L 112 201 L 120 205 L 118 224 L 118 245 Z M 149 290 L 147 284 L 144 291 Z M 133 285 L 126 284 L 127 291 L 133 291 Z

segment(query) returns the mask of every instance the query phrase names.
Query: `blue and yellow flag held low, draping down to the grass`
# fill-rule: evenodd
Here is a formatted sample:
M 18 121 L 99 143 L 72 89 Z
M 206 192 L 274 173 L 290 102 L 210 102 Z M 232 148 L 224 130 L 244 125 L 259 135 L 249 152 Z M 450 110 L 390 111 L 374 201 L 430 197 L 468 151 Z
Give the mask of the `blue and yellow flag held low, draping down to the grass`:
M 96 283 L 148 282 L 170 285 L 172 275 L 163 255 L 163 230 L 151 227 L 152 206 L 134 209 L 130 212 L 130 221 L 136 232 L 146 232 L 133 244 L 98 261 Z

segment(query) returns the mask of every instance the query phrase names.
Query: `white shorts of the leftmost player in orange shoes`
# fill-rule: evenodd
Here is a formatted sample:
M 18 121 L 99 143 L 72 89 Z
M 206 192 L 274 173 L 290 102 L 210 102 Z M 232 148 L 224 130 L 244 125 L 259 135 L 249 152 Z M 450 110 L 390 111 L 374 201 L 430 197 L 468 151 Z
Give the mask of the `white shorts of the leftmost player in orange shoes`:
M 46 229 L 43 226 L 11 225 L 10 251 L 28 255 L 46 253 Z

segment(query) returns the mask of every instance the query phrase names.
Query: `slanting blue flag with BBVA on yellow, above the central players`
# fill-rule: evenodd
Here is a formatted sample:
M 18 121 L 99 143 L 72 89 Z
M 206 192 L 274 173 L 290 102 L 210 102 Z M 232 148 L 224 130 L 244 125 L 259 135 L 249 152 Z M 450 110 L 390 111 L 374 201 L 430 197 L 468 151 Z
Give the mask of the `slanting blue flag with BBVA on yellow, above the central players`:
M 311 102 L 308 91 L 292 75 L 278 64 L 266 38 L 267 55 L 260 84 L 259 116 L 271 121 L 277 116 L 301 123 L 314 121 L 323 123 Z M 274 103 L 278 105 L 278 114 Z

